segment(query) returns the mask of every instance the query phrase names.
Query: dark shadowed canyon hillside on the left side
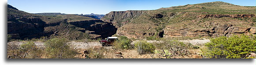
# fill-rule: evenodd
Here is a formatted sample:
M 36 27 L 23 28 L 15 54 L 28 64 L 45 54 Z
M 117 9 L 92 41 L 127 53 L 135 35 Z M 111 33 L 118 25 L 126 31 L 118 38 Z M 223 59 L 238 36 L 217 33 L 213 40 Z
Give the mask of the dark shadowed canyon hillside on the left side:
M 15 39 L 40 38 L 41 36 L 70 40 L 94 39 L 112 36 L 117 30 L 111 23 L 94 18 L 75 14 L 30 14 L 13 9 L 14 7 L 9 8 L 9 6 L 11 5 L 8 5 L 8 35 Z

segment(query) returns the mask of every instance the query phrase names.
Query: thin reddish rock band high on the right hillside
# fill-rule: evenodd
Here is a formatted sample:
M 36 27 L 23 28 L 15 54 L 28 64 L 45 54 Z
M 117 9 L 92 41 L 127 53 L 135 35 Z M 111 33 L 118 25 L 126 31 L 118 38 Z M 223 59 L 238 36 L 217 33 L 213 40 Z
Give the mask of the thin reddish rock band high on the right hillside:
M 256 14 L 201 14 L 198 17 L 199 18 L 222 18 L 222 17 L 252 18 L 252 17 L 256 17 Z

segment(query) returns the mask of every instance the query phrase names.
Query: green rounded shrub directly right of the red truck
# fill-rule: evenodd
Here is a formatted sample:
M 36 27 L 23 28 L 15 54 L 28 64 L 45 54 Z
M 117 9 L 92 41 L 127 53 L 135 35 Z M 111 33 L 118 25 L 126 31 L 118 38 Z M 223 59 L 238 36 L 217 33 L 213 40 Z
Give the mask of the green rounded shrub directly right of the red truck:
M 113 43 L 115 49 L 131 49 L 131 40 L 126 36 L 120 36 L 117 41 Z

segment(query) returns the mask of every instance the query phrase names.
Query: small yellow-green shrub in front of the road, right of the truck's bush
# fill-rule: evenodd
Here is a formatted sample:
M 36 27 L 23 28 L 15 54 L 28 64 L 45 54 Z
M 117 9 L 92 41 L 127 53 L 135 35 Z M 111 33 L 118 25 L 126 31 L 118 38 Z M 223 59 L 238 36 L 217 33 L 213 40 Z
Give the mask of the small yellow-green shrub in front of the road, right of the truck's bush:
M 151 54 L 155 50 L 155 46 L 147 41 L 138 41 L 134 46 L 139 54 Z

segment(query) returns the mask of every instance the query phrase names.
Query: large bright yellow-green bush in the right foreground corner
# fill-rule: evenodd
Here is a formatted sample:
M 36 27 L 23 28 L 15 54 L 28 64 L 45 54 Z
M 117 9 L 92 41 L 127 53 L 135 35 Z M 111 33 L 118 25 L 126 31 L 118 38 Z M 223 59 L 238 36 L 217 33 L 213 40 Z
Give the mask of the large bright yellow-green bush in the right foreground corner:
M 218 37 L 206 43 L 202 50 L 206 58 L 246 58 L 247 54 L 256 52 L 256 37 L 241 35 Z

